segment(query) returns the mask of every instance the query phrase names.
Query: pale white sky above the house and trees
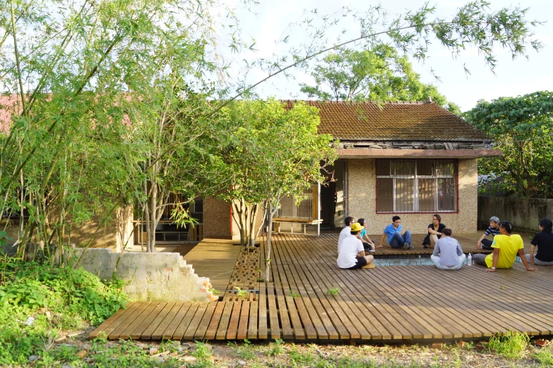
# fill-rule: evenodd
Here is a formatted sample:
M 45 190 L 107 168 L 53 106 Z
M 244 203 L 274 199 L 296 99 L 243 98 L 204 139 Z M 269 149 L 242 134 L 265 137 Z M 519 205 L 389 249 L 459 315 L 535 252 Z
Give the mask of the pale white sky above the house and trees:
M 238 0 L 236 0 L 238 1 Z M 430 2 L 436 5 L 436 16 L 448 16 L 456 12 L 456 9 L 467 1 L 448 0 Z M 498 10 L 503 6 L 518 6 L 519 3 L 505 0 L 490 0 L 492 10 Z M 232 5 L 232 0 L 230 0 Z M 302 17 L 306 10 L 317 8 L 319 14 L 335 13 L 341 11 L 343 6 L 349 6 L 357 11 L 364 11 L 369 5 L 381 4 L 390 13 L 404 13 L 406 10 L 415 10 L 424 4 L 424 0 L 387 0 L 377 2 L 373 0 L 260 0 L 258 6 L 246 10 L 237 6 L 237 16 L 241 20 L 244 36 L 256 40 L 257 51 L 244 51 L 234 54 L 237 61 L 242 59 L 266 57 L 273 54 L 283 54 L 289 47 L 301 42 L 307 42 L 305 32 L 296 28 L 290 33 L 291 42 L 288 44 L 275 44 L 275 40 L 287 34 L 288 25 Z M 525 0 L 522 8 L 529 8 L 529 20 L 546 21 L 544 25 L 535 29 L 535 38 L 543 44 L 540 52 L 529 51 L 530 59 L 518 58 L 514 61 L 508 51 L 496 49 L 497 66 L 492 73 L 484 64 L 484 59 L 479 56 L 476 49 L 464 51 L 457 59 L 451 57 L 451 53 L 443 47 L 432 44 L 429 47 L 424 64 L 412 61 L 417 73 L 420 73 L 422 82 L 433 83 L 439 92 L 444 94 L 451 102 L 458 104 L 461 111 L 472 109 L 480 99 L 491 101 L 498 97 L 516 97 L 540 90 L 553 89 L 553 22 L 547 22 L 550 14 L 553 14 L 552 0 Z M 253 11 L 252 11 L 253 10 Z M 357 25 L 352 20 L 347 20 L 340 25 L 347 30 L 347 35 L 356 37 L 359 35 Z M 341 28 L 340 28 L 341 29 Z M 330 43 L 332 43 L 333 31 L 329 31 Z M 337 31 L 336 31 L 337 32 Z M 356 33 L 357 32 L 357 33 Z M 350 38 L 352 38 L 350 37 Z M 463 65 L 470 70 L 466 74 Z M 432 73 L 439 76 L 437 81 Z M 256 92 L 262 97 L 274 96 L 279 99 L 307 99 L 307 96 L 299 92 L 299 82 L 309 82 L 311 77 L 304 70 L 295 70 L 294 78 L 275 78 L 263 83 Z M 261 70 L 254 71 L 247 77 L 248 82 L 256 82 L 265 77 L 267 73 Z

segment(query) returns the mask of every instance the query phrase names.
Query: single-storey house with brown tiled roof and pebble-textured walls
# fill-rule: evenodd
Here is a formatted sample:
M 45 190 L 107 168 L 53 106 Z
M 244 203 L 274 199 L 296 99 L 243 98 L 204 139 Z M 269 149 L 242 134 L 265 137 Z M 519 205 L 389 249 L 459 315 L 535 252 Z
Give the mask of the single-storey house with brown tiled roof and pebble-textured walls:
M 339 140 L 335 180 L 311 197 L 323 228 L 355 216 L 376 234 L 397 214 L 426 233 L 437 213 L 456 233 L 477 231 L 477 159 L 502 154 L 487 135 L 432 101 L 305 102 L 319 108 L 319 133 Z M 239 236 L 230 204 L 206 198 L 203 219 L 206 238 Z

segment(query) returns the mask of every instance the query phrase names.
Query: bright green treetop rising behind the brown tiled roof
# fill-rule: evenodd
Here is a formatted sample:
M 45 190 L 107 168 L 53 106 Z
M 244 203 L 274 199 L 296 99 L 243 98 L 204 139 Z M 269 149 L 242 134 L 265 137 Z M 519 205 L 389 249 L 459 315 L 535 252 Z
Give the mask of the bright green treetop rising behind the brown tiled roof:
M 407 56 L 386 44 L 356 51 L 341 47 L 323 57 L 311 72 L 315 85 L 300 83 L 308 97 L 335 101 L 423 101 L 453 109 L 434 85 L 420 82 Z

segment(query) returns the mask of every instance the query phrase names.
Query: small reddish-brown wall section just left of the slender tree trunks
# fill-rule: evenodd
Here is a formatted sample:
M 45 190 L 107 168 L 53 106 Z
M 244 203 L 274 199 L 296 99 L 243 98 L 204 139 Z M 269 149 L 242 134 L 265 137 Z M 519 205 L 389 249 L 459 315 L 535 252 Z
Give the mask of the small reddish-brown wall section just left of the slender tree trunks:
M 214 197 L 203 200 L 203 238 L 230 239 L 230 203 Z M 235 228 L 232 226 L 232 230 Z

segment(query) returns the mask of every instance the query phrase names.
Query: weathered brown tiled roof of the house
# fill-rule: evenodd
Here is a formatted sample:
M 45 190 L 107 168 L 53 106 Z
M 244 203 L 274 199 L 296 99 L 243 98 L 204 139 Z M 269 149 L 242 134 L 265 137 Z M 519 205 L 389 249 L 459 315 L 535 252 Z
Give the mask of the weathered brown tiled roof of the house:
M 284 100 L 287 106 L 296 100 Z M 480 130 L 429 102 L 304 101 L 319 108 L 319 133 L 338 140 L 483 142 Z

